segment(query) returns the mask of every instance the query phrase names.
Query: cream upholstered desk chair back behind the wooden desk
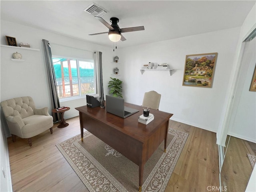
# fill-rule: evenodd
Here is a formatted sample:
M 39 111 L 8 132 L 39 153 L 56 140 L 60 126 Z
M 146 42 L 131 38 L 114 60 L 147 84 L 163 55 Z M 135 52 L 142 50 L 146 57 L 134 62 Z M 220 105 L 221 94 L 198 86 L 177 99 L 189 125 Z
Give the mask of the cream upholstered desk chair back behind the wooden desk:
M 158 110 L 160 99 L 161 99 L 161 94 L 159 94 L 158 92 L 156 91 L 146 92 L 144 94 L 142 106 L 150 107 L 152 109 Z

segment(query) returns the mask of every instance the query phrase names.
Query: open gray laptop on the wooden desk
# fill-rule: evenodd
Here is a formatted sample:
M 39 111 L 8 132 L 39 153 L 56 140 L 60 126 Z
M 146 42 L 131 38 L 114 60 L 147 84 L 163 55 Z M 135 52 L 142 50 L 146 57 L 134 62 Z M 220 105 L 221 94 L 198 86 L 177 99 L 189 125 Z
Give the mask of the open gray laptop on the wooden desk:
M 124 106 L 124 99 L 106 95 L 106 110 L 116 116 L 126 118 L 136 112 L 137 109 Z

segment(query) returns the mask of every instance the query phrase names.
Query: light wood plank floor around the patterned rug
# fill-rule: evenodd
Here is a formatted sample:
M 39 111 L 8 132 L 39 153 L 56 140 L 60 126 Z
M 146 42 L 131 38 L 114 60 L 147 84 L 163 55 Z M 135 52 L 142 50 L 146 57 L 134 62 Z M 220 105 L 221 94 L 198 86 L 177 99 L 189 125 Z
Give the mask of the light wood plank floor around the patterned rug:
M 79 118 L 66 120 L 69 126 L 46 131 L 32 138 L 8 138 L 13 191 L 88 192 L 56 144 L 80 134 Z M 170 121 L 170 127 L 189 133 L 188 140 L 166 187 L 166 192 L 204 192 L 219 186 L 216 134 Z

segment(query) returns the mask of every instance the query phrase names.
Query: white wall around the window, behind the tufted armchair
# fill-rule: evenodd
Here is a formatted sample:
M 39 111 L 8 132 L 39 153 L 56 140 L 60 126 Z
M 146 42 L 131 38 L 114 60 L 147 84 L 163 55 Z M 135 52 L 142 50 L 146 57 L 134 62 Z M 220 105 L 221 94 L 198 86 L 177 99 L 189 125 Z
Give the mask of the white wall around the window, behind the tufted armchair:
M 107 93 L 107 83 L 114 68 L 110 63 L 115 56 L 112 48 L 1 20 L 1 44 L 4 45 L 6 45 L 5 35 L 15 37 L 18 44 L 26 42 L 31 44 L 31 48 L 40 49 L 40 51 L 1 47 L 1 101 L 31 96 L 37 108 L 48 106 L 49 113 L 52 113 L 42 39 L 50 43 L 102 52 L 104 93 Z M 16 51 L 22 54 L 25 62 L 11 60 L 12 53 Z M 65 112 L 64 118 L 78 116 L 78 111 L 74 108 L 86 105 L 86 98 L 62 102 L 61 105 L 70 107 L 70 110 Z

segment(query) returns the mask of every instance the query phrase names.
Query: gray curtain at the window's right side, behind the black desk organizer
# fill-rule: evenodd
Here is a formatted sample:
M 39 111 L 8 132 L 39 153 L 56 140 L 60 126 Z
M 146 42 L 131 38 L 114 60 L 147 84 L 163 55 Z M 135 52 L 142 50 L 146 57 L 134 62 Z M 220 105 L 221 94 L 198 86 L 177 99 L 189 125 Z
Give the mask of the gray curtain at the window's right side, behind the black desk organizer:
M 96 68 L 96 80 L 97 90 L 96 93 L 99 94 L 100 107 L 104 107 L 104 92 L 103 92 L 103 78 L 102 78 L 102 52 L 94 52 L 93 54 L 94 64 Z M 95 76 L 94 76 L 95 77 Z

